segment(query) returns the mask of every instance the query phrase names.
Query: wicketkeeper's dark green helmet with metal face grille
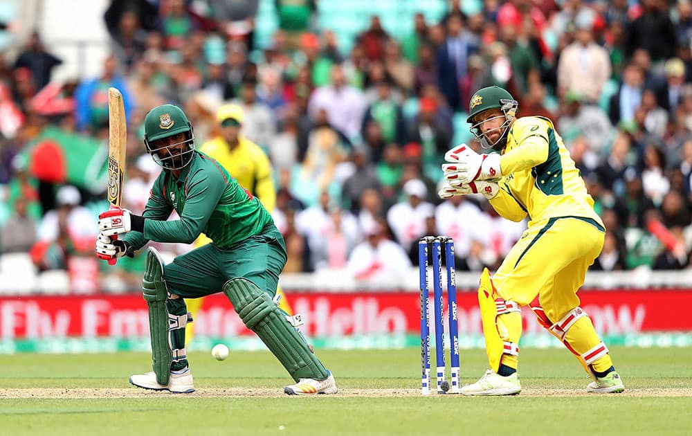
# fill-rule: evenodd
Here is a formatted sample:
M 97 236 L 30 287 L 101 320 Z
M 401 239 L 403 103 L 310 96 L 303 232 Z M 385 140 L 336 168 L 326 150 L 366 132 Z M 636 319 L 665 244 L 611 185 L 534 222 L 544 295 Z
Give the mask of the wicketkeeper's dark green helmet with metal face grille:
M 500 127 L 503 129 L 500 139 L 495 143 L 489 143 L 486 136 L 482 134 L 480 123 L 475 122 L 475 117 L 489 109 L 500 109 L 504 113 L 505 122 Z M 509 125 L 516 116 L 516 111 L 519 109 L 519 103 L 514 100 L 512 95 L 505 89 L 500 87 L 486 87 L 479 89 L 471 97 L 468 102 L 468 118 L 466 122 L 471 124 L 471 132 L 480 140 L 480 143 L 485 148 L 502 149 L 507 144 L 507 132 Z

